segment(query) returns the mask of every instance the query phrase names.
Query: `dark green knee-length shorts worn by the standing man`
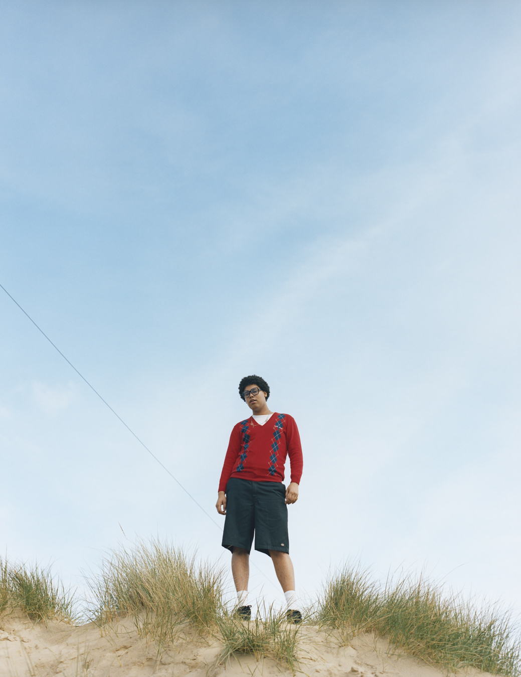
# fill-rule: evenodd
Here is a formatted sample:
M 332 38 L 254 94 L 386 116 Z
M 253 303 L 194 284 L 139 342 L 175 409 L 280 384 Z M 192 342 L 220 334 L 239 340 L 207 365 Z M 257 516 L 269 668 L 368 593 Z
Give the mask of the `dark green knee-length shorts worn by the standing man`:
M 251 482 L 230 477 L 226 485 L 223 548 L 290 552 L 286 487 L 281 482 Z

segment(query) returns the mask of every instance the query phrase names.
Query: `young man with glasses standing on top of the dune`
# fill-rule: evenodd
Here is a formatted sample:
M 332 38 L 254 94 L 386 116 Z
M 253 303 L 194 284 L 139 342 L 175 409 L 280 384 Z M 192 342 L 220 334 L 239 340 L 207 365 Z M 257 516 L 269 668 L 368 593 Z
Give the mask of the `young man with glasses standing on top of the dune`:
M 302 447 L 292 416 L 271 412 L 267 406 L 269 385 L 260 376 L 245 376 L 239 394 L 252 410 L 252 416 L 237 423 L 231 431 L 219 483 L 217 512 L 225 515 L 223 547 L 231 550 L 231 573 L 239 608 L 237 614 L 251 616 L 246 605 L 250 550 L 255 534 L 255 550 L 271 557 L 284 590 L 287 617 L 300 623 L 294 609 L 295 576 L 288 539 L 288 505 L 298 499 L 302 475 Z M 291 483 L 284 487 L 284 464 L 290 457 Z

